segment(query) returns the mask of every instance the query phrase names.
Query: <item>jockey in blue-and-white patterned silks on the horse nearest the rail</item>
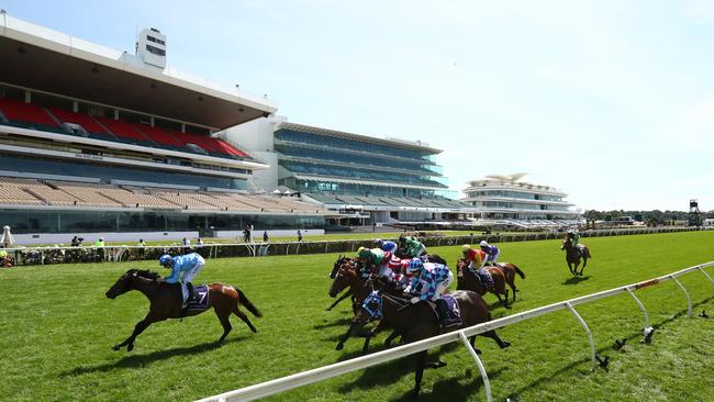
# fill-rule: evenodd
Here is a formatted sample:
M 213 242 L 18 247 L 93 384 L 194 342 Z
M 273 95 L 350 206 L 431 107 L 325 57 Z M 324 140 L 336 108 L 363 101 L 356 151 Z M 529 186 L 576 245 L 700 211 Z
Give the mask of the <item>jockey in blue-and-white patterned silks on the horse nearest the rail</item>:
M 415 291 L 419 294 L 410 299 L 410 302 L 414 304 L 420 301 L 433 301 L 436 304 L 439 325 L 445 328 L 456 324 L 456 322 L 450 320 L 446 300 L 440 298 L 454 281 L 451 270 L 442 264 L 422 263 L 419 258 L 412 258 L 409 261 L 409 271 L 414 277 L 404 292 L 410 293 Z

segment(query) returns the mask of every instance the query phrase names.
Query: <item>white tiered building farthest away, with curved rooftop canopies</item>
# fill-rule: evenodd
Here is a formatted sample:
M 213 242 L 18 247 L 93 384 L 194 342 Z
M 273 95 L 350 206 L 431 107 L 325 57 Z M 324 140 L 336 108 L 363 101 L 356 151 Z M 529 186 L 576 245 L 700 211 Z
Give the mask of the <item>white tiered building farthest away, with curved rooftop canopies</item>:
M 522 181 L 525 175 L 489 175 L 472 180 L 460 201 L 472 205 L 476 209 L 473 217 L 481 220 L 577 223 L 580 213 L 570 211 L 572 204 L 566 201 L 568 194 L 549 186 Z

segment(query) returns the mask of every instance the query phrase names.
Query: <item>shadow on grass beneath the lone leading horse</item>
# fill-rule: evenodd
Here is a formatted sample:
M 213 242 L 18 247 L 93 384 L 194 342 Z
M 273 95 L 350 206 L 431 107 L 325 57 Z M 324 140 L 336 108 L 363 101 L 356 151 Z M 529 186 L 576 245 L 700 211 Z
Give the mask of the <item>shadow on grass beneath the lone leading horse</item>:
M 107 371 L 112 371 L 116 369 L 122 369 L 122 368 L 137 368 L 137 367 L 143 367 L 148 364 L 152 364 L 154 361 L 159 361 L 159 360 L 165 360 L 175 356 L 189 356 L 189 355 L 198 355 L 202 354 L 209 350 L 217 349 L 220 347 L 223 347 L 225 345 L 232 344 L 234 342 L 241 342 L 244 339 L 249 338 L 252 335 L 250 334 L 245 334 L 236 337 L 232 337 L 226 339 L 223 344 L 219 344 L 217 342 L 207 342 L 203 344 L 199 345 L 193 345 L 193 346 L 188 346 L 188 347 L 175 347 L 171 349 L 166 349 L 166 350 L 156 350 L 148 353 L 146 355 L 136 355 L 133 351 L 126 351 L 125 349 L 116 351 L 116 354 L 132 354 L 130 356 L 124 356 L 120 360 L 114 361 L 114 362 L 107 362 L 103 365 L 97 365 L 97 366 L 80 366 L 80 367 L 75 367 L 71 370 L 68 371 L 63 371 L 59 373 L 60 378 L 64 377 L 77 377 L 77 376 L 82 376 L 87 373 L 92 373 L 92 372 L 107 372 Z M 109 348 L 109 346 L 108 346 Z M 134 349 L 136 350 L 136 349 Z

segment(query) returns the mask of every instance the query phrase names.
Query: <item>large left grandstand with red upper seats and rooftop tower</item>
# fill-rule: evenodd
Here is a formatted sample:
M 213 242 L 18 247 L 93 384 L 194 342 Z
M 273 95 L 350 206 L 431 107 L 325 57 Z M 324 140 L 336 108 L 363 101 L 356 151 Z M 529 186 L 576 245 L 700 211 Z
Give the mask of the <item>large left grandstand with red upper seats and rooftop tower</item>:
M 0 24 L 0 223 L 19 239 L 324 227 L 320 206 L 248 193 L 269 166 L 220 135 L 275 113 L 263 97 L 166 68 L 164 51 Z

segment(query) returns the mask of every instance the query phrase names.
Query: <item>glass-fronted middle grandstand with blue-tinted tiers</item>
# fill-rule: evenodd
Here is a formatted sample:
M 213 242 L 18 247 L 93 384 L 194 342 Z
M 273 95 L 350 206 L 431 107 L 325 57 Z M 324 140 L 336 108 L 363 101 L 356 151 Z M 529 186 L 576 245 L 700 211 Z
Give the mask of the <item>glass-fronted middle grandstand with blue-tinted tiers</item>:
M 442 150 L 421 142 L 259 119 L 226 132 L 226 137 L 278 166 L 260 185 L 335 211 L 333 223 L 397 224 L 462 221 L 472 210 L 450 199 L 434 156 Z M 255 142 L 249 138 L 271 138 Z M 248 139 L 246 139 L 248 138 Z

